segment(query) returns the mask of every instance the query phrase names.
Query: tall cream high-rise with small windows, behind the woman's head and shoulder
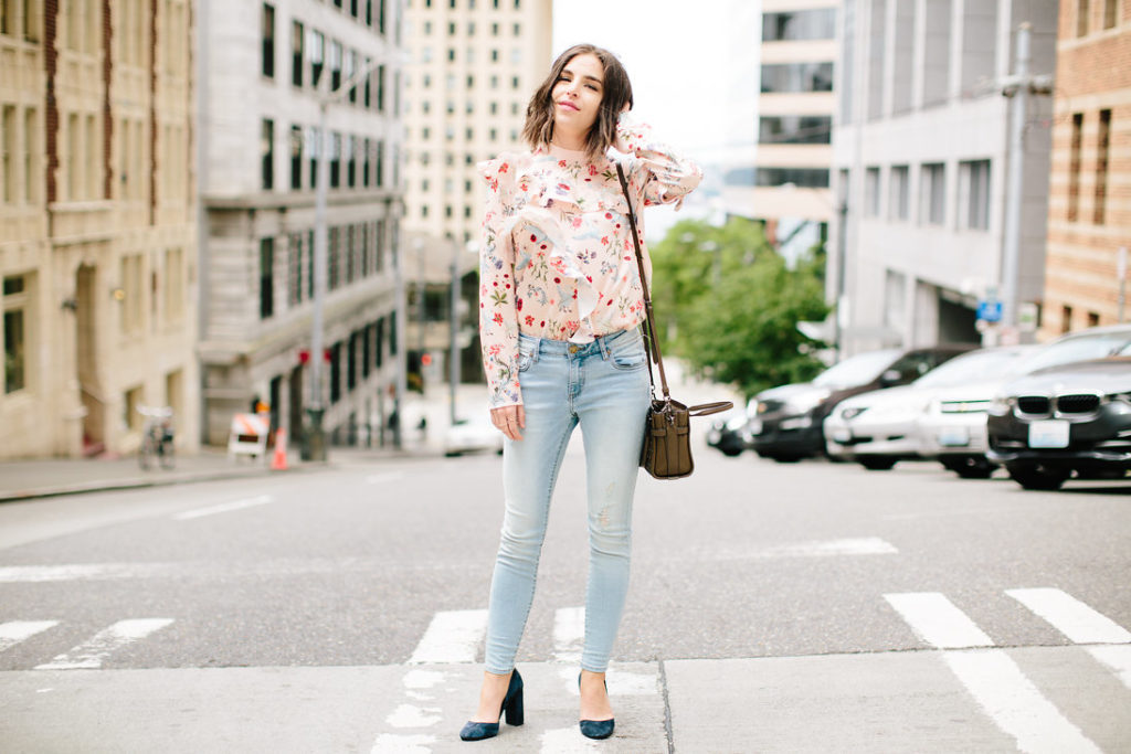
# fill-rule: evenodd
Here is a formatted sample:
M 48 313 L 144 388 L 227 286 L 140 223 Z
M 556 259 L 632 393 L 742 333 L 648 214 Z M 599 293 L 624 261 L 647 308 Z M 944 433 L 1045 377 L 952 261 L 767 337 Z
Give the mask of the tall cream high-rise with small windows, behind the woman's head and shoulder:
M 484 184 L 475 165 L 523 149 L 526 105 L 553 59 L 552 0 L 408 0 L 405 167 L 409 382 L 450 374 L 447 309 L 428 304 L 457 254 L 460 373 L 477 380 L 477 279 Z M 415 277 L 414 277 L 415 276 Z M 423 294 L 423 305 L 416 298 Z M 424 322 L 414 320 L 429 312 Z M 441 317 L 441 314 L 443 314 Z M 428 333 L 428 337 L 422 337 Z M 423 349 L 423 350 L 422 350 Z M 425 354 L 428 358 L 425 358 Z M 470 357 L 468 356 L 470 355 Z M 433 369 L 422 370 L 422 361 Z

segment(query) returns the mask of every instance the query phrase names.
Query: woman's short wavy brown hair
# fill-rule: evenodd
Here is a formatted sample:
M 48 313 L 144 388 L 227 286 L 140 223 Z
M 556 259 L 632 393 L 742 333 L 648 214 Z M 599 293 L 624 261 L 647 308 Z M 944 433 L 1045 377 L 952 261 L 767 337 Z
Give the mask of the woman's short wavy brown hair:
M 558 55 L 558 60 L 550 67 L 550 76 L 534 92 L 530 104 L 526 106 L 526 125 L 523 127 L 523 138 L 532 147 L 549 145 L 553 138 L 554 84 L 558 83 L 569 61 L 585 54 L 596 55 L 605 69 L 604 83 L 601 88 L 601 109 L 597 113 L 597 120 L 586 137 L 586 151 L 590 158 L 598 157 L 616 140 L 616 120 L 620 118 L 621 111 L 624 110 L 624 105 L 632 106 L 632 84 L 629 81 L 628 71 L 624 70 L 624 66 L 616 59 L 616 55 L 607 50 L 592 44 L 575 44 Z

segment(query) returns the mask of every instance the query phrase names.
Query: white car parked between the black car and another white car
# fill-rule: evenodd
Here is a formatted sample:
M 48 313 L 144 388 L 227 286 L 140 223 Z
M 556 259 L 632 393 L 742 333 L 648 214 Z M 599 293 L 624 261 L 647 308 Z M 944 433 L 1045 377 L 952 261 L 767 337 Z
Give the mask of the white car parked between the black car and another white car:
M 920 458 L 918 422 L 932 404 L 942 395 L 953 393 L 957 385 L 991 380 L 996 384 L 1013 373 L 1025 353 L 1026 347 L 1021 346 L 974 350 L 956 356 L 910 384 L 841 401 L 824 421 L 829 456 L 856 461 L 872 470 L 887 470 L 901 460 Z M 984 436 L 984 415 L 982 424 Z

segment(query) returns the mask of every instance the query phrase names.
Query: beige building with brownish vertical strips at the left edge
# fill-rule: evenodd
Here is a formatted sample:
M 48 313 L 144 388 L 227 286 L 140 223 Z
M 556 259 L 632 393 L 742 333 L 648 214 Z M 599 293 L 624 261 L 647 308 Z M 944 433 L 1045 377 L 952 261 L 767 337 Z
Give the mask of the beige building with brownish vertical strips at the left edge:
M 0 5 L 0 459 L 198 431 L 189 0 Z

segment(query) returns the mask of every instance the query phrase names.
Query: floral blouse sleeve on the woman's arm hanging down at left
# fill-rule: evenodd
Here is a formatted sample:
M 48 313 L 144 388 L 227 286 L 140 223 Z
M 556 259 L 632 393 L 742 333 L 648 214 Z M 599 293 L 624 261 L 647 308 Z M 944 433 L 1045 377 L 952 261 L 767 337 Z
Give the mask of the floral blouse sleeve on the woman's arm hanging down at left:
M 512 165 L 503 158 L 480 165 L 487 182 L 480 248 L 480 340 L 491 408 L 523 402 L 518 383 L 518 304 L 515 246 L 504 189 L 512 185 Z M 500 188 L 502 183 L 503 188 Z

